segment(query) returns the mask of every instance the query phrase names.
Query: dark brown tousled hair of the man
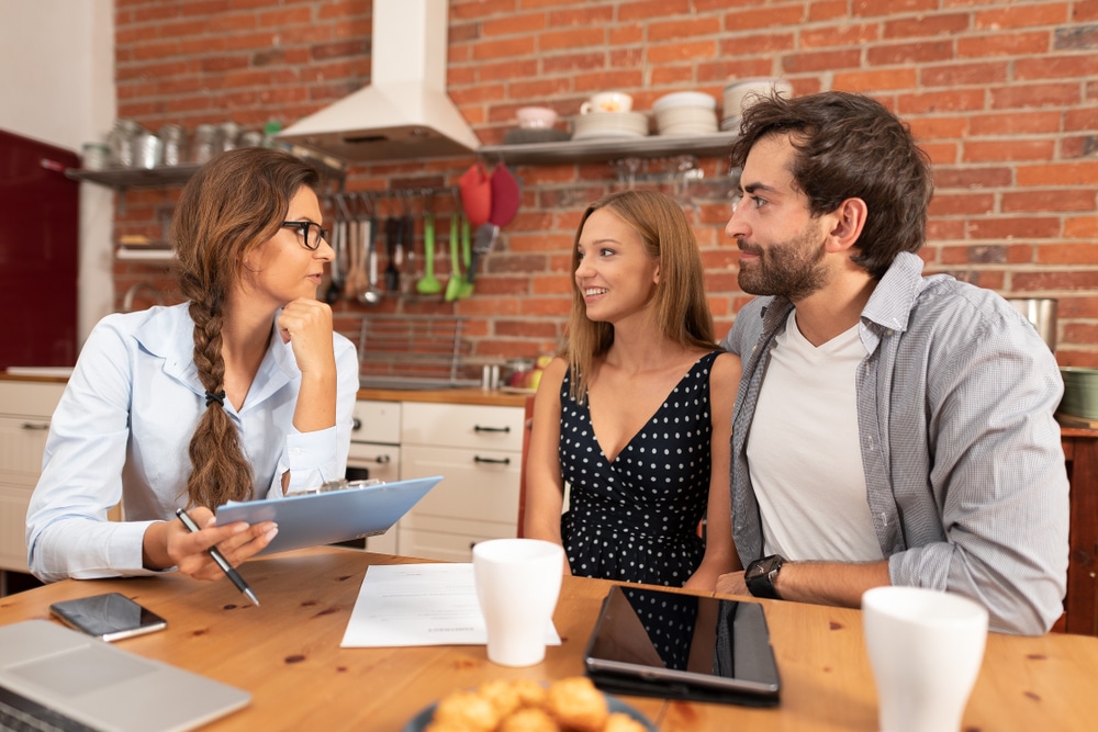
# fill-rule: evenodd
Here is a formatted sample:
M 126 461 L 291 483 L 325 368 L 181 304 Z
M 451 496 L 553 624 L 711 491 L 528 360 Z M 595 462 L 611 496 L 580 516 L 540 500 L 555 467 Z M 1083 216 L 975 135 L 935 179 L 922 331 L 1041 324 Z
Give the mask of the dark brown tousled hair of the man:
M 742 167 L 763 137 L 786 133 L 796 150 L 793 180 L 813 216 L 847 199 L 865 202 L 854 262 L 879 279 L 897 254 L 922 248 L 934 192 L 930 158 L 881 102 L 842 91 L 761 99 L 743 113 L 732 165 Z

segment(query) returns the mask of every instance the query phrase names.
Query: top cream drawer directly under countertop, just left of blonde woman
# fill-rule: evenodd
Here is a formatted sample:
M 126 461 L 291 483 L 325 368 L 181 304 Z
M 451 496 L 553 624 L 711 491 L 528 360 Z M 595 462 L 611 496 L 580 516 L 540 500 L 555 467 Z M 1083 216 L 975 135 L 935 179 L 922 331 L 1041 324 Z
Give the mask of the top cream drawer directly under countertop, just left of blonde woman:
M 469 404 L 402 404 L 402 444 L 523 450 L 522 407 Z

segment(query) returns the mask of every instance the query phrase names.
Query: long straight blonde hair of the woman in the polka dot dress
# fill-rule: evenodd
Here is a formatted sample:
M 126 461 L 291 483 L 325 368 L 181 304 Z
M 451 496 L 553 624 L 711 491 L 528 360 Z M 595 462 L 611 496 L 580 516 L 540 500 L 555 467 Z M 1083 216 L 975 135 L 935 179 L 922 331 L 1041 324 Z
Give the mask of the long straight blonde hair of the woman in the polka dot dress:
M 682 209 L 656 191 L 628 190 L 605 195 L 583 212 L 572 247 L 572 274 L 580 266 L 580 235 L 595 211 L 606 209 L 632 228 L 650 257 L 659 261 L 660 281 L 652 306 L 660 335 L 683 347 L 714 348 L 713 314 L 705 299 L 702 252 Z M 574 281 L 568 336 L 559 356 L 568 361 L 571 395 L 582 402 L 594 364 L 614 344 L 614 326 L 587 317 L 583 293 Z

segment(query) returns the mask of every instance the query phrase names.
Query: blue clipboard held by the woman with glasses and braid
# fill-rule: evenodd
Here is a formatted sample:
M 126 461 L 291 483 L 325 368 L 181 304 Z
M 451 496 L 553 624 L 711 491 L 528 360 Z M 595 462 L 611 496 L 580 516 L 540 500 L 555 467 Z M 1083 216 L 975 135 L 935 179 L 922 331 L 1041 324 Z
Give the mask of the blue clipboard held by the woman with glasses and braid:
M 259 554 L 361 539 L 388 531 L 441 480 L 435 475 L 270 500 L 231 502 L 217 508 L 217 523 L 278 523 L 278 536 Z

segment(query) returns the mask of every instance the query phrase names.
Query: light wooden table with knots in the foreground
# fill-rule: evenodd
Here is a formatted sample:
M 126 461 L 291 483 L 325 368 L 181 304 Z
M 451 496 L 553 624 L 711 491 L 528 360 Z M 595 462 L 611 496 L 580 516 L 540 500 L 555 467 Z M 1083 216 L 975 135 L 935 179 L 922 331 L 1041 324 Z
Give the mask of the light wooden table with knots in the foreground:
M 242 573 L 262 603 L 227 581 L 160 577 L 66 581 L 0 600 L 0 624 L 48 617 L 59 599 L 117 590 L 168 618 L 168 630 L 120 646 L 247 689 L 253 703 L 205 729 L 399 731 L 446 692 L 491 678 L 583 673 L 581 654 L 608 582 L 565 577 L 554 622 L 563 639 L 529 668 L 489 663 L 483 646 L 340 649 L 370 564 L 403 558 L 312 549 L 255 560 Z M 665 702 L 626 697 L 660 730 L 876 731 L 876 694 L 856 610 L 765 605 L 783 680 L 782 705 Z M 964 729 L 1093 730 L 1098 638 L 991 633 Z

